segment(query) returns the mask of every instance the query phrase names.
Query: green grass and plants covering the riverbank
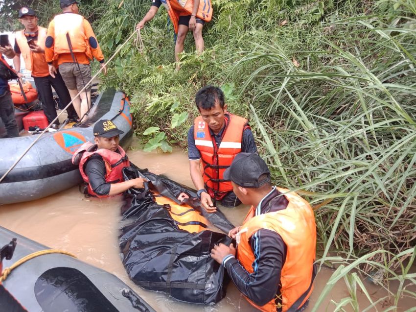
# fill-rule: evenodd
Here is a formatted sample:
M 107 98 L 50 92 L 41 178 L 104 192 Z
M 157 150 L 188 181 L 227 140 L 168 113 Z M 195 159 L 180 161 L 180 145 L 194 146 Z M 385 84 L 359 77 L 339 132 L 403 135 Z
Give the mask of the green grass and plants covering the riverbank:
M 221 86 L 229 110 L 250 120 L 276 184 L 314 206 L 318 263 L 336 270 L 313 311 L 323 311 L 340 279 L 351 295 L 328 311 L 399 311 L 400 300 L 416 300 L 415 1 L 212 2 L 202 55 L 189 35 L 175 71 L 173 27 L 161 8 L 141 32 L 143 52 L 124 48 L 104 86 L 131 96 L 145 148 L 163 151 L 186 148 L 196 91 Z M 107 57 L 150 5 L 83 3 Z M 375 301 L 366 278 L 388 295 Z M 368 306 L 358 306 L 358 292 Z

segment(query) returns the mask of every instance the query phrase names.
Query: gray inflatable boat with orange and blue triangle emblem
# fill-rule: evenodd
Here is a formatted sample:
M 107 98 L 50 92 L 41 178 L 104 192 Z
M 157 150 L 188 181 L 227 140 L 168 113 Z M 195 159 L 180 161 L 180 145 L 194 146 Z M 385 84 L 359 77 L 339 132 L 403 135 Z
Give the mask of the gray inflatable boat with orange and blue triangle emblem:
M 112 120 L 124 131 L 120 145 L 130 144 L 133 135 L 130 103 L 122 92 L 106 90 L 95 100 L 88 119 L 79 126 L 45 133 L 18 165 L 0 182 L 0 205 L 39 199 L 81 183 L 71 158 L 83 143 L 93 142 L 96 121 Z M 36 135 L 0 140 L 0 177 L 16 162 Z

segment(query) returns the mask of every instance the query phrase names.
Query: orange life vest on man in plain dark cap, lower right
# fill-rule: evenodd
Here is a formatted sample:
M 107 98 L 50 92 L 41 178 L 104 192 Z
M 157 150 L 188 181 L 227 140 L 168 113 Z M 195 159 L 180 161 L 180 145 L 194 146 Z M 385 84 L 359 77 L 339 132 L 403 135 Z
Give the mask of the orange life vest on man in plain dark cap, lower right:
M 237 234 L 237 259 L 243 267 L 253 273 L 254 253 L 250 238 L 259 229 L 276 232 L 287 246 L 286 260 L 280 277 L 280 293 L 282 312 L 288 311 L 294 303 L 309 289 L 313 280 L 316 253 L 316 224 L 313 210 L 309 203 L 295 192 L 277 188 L 289 201 L 286 209 L 255 216 L 254 207 L 251 208 L 240 231 Z M 299 309 L 309 298 L 313 286 L 301 301 Z M 276 312 L 275 300 L 264 306 L 257 306 L 246 298 L 251 305 L 263 312 Z

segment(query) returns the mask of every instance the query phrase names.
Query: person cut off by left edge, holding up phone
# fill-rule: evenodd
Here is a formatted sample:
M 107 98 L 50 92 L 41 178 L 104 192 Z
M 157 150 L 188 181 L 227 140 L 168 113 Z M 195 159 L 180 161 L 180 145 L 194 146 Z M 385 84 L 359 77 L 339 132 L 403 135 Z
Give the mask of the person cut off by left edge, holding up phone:
M 13 53 L 13 48 L 9 43 L 7 35 L 0 37 L 0 118 L 4 123 L 8 138 L 15 138 L 19 136 L 19 128 L 15 118 L 15 109 L 10 94 L 9 80 L 17 79 L 17 74 L 14 69 L 7 64 L 3 57 Z

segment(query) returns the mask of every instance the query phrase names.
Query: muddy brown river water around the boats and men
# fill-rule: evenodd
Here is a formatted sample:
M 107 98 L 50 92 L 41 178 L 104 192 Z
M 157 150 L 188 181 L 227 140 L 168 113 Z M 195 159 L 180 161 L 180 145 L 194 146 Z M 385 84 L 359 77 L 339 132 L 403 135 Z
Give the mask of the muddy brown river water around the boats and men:
M 128 151 L 130 160 L 140 168 L 148 168 L 157 174 L 192 187 L 189 176 L 187 154 L 175 149 L 171 154 L 157 152 L 145 153 L 138 147 Z M 230 283 L 227 296 L 213 306 L 203 306 L 178 302 L 162 292 L 153 292 L 139 288 L 132 283 L 121 263 L 118 248 L 118 229 L 121 220 L 121 198 L 87 199 L 73 187 L 40 200 L 4 205 L 0 207 L 0 225 L 27 238 L 36 240 L 51 248 L 63 249 L 75 254 L 78 259 L 115 274 L 133 288 L 156 311 L 170 312 L 251 312 L 257 311 L 250 306 L 235 286 Z M 222 211 L 234 225 L 240 225 L 248 207 L 233 209 L 222 208 Z M 317 276 L 315 289 L 306 311 L 316 303 L 333 270 L 323 268 Z M 365 284 L 373 301 L 385 296 L 380 287 Z M 331 289 L 318 311 L 334 311 L 336 303 L 349 296 L 343 280 Z M 368 307 L 365 294 L 358 291 L 360 309 Z M 376 308 L 368 311 L 383 311 L 389 306 L 382 301 Z M 416 306 L 413 299 L 400 300 L 397 311 L 406 311 Z M 353 311 L 349 307 L 345 311 Z

